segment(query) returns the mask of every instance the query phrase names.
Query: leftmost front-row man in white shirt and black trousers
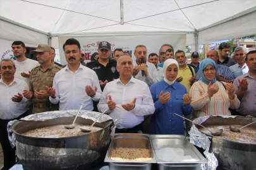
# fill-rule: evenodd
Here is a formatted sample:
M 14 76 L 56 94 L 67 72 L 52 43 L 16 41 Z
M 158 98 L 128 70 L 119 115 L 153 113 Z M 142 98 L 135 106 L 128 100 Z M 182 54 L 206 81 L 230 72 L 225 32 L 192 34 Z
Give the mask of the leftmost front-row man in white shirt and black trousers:
M 15 165 L 15 150 L 9 144 L 7 124 L 28 115 L 27 99 L 22 96 L 23 89 L 28 89 L 28 85 L 14 77 L 15 71 L 13 60 L 1 60 L 0 72 L 3 77 L 0 79 L 0 143 L 4 154 L 4 169 Z

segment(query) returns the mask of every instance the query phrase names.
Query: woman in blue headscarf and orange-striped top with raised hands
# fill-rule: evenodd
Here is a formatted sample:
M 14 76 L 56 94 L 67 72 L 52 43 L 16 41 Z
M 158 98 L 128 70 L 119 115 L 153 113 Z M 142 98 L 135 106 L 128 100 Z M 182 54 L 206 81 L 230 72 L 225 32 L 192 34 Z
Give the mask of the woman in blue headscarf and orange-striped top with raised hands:
M 216 81 L 217 65 L 212 59 L 204 59 L 199 65 L 201 77 L 190 89 L 193 116 L 231 115 L 229 108 L 237 109 L 240 101 L 229 82 Z

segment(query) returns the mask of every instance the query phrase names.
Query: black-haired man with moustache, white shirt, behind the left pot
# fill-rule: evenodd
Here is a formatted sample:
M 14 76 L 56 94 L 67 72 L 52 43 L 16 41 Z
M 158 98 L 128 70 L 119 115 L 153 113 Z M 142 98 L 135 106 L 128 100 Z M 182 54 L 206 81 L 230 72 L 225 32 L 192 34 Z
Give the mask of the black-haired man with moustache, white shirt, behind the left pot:
M 75 38 L 63 45 L 68 64 L 57 72 L 52 88 L 47 93 L 52 104 L 59 103 L 59 110 L 93 110 L 92 100 L 99 101 L 102 95 L 97 74 L 80 64 L 80 43 Z M 94 89 L 93 89 L 94 88 Z

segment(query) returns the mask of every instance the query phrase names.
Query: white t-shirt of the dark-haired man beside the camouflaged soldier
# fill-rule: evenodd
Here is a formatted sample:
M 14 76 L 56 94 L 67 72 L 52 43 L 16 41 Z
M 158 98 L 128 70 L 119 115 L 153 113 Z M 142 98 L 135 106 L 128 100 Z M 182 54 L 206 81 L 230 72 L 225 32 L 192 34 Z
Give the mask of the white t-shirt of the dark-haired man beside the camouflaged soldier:
M 15 62 L 15 67 L 16 67 L 15 78 L 21 79 L 21 80 L 27 82 L 27 84 L 28 84 L 29 78 L 22 77 L 21 72 L 25 72 L 28 74 L 28 71 L 31 71 L 34 67 L 36 67 L 37 65 L 40 65 L 39 62 L 37 62 L 36 60 L 32 60 L 32 59 L 27 59 L 23 62 L 18 62 L 17 60 L 15 60 L 14 62 Z M 29 84 L 28 84 L 28 86 L 29 86 Z

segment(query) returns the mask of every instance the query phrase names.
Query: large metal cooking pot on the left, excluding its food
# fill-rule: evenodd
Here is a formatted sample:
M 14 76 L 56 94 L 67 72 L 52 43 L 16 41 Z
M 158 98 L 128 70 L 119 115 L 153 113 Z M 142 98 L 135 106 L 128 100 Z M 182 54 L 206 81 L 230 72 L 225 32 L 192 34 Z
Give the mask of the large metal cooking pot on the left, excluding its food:
M 23 169 L 87 169 L 102 161 L 110 142 L 110 125 L 113 120 L 95 123 L 102 127 L 97 132 L 62 138 L 36 138 L 21 135 L 35 128 L 73 122 L 73 117 L 14 123 L 11 130 L 16 135 L 17 156 Z M 78 117 L 76 123 L 92 125 L 92 120 Z

